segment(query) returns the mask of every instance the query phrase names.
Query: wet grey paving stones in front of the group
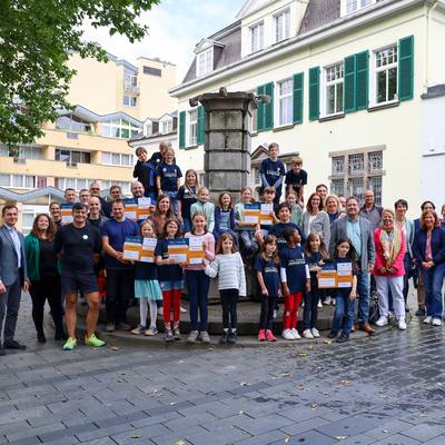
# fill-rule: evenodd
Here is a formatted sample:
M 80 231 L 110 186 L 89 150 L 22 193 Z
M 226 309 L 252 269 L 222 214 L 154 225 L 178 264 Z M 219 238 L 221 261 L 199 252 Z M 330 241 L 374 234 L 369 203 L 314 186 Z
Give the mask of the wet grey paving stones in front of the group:
M 417 319 L 346 345 L 63 353 L 24 304 L 19 333 L 0 444 L 445 444 L 443 333 Z

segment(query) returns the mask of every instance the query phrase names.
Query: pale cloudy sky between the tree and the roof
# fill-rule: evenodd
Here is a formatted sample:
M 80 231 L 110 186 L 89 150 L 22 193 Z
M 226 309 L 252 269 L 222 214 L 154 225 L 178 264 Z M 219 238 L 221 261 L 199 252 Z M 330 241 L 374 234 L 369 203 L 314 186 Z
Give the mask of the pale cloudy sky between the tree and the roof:
M 110 37 L 107 29 L 85 26 L 85 37 L 99 42 L 119 59 L 135 63 L 139 56 L 158 57 L 178 67 L 180 82 L 194 58 L 194 49 L 201 38 L 208 37 L 236 21 L 244 0 L 161 0 L 140 22 L 149 26 L 148 36 L 130 43 L 121 36 Z

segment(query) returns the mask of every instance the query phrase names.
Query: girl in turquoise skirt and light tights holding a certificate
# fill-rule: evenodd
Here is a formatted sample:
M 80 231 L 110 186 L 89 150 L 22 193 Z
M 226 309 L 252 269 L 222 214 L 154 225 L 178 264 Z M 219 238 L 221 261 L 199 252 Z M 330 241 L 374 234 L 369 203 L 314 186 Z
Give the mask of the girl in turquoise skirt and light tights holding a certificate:
M 157 300 L 162 300 L 162 291 L 158 283 L 158 270 L 152 255 L 156 248 L 155 228 L 150 220 L 140 226 L 142 236 L 142 255 L 135 263 L 135 298 L 139 299 L 140 324 L 131 334 L 156 335 Z M 147 329 L 148 307 L 150 307 L 150 328 Z

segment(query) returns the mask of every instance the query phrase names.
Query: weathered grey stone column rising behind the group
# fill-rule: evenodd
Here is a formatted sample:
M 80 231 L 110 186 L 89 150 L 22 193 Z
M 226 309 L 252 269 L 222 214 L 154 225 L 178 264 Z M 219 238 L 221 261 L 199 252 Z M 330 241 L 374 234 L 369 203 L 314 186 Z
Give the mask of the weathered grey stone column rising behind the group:
M 217 201 L 228 190 L 234 199 L 248 185 L 250 175 L 251 116 L 257 100 L 251 92 L 205 93 L 190 100 L 206 110 L 204 169 L 205 186 Z

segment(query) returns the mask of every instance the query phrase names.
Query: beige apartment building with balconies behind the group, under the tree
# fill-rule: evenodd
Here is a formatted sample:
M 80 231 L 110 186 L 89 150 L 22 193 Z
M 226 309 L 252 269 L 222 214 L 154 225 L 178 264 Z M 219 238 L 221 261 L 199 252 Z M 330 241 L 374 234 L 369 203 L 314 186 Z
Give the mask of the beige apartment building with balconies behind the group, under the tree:
M 134 66 L 111 55 L 108 62 L 73 55 L 69 65 L 77 70 L 68 95 L 73 109 L 44 122 L 44 135 L 17 157 L 0 144 L 0 204 L 13 196 L 20 202 L 23 194 L 27 221 L 58 197 L 52 188 L 80 190 L 97 180 L 103 190 L 117 184 L 128 195 L 135 164 L 128 140 L 142 131 L 147 116 L 176 109 L 168 93 L 176 66 L 169 62 L 139 58 Z M 44 196 L 29 194 L 46 188 Z

